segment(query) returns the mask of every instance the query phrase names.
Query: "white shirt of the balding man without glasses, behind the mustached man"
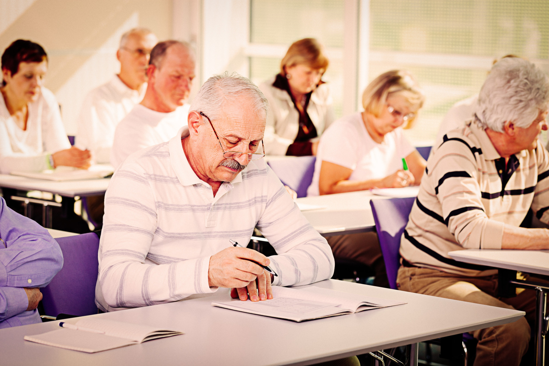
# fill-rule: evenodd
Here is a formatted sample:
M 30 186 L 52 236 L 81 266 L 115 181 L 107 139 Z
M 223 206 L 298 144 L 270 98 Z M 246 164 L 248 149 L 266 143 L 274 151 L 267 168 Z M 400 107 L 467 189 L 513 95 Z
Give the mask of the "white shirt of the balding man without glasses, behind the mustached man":
M 187 125 L 189 107 L 184 104 L 173 112 L 164 113 L 136 104 L 116 126 L 110 164 L 116 169 L 136 151 L 171 139 L 178 129 Z

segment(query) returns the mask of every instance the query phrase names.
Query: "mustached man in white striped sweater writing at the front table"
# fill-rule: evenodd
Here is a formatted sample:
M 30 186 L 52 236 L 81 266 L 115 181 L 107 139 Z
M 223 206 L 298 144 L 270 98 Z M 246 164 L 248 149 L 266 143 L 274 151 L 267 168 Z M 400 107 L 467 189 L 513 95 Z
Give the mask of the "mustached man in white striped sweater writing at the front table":
M 132 154 L 105 199 L 96 303 L 103 311 L 155 305 L 233 288 L 272 299 L 271 285 L 332 277 L 334 258 L 264 159 L 267 100 L 239 75 L 209 78 L 188 126 Z M 254 227 L 277 255 L 246 246 Z M 271 266 L 272 277 L 251 262 Z

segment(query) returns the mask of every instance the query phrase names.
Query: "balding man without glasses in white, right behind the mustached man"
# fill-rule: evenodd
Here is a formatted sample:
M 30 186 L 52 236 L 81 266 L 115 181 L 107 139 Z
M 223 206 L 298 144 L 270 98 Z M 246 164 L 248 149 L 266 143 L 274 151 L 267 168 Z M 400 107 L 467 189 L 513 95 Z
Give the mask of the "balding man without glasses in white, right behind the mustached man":
M 159 42 L 150 52 L 147 91 L 116 126 L 110 163 L 116 169 L 135 151 L 172 138 L 187 123 L 185 104 L 194 78 L 195 56 L 186 42 Z

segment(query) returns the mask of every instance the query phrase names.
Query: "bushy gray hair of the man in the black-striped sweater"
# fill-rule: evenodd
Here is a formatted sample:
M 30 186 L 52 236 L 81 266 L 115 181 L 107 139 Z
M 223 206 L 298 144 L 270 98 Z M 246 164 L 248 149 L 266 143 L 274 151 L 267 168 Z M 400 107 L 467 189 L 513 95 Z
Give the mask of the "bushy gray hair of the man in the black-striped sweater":
M 477 122 L 504 132 L 505 122 L 527 128 L 549 102 L 549 80 L 533 63 L 522 58 L 503 58 L 492 66 L 480 89 Z

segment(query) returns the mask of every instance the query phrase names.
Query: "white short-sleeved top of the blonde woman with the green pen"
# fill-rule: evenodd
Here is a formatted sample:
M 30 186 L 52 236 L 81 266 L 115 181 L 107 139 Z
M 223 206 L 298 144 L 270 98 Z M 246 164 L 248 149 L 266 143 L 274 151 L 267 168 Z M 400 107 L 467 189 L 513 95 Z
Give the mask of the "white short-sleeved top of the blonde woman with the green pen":
M 379 144 L 368 133 L 361 112 L 340 118 L 320 139 L 315 173 L 307 196 L 318 195 L 322 161 L 351 169 L 349 181 L 367 181 L 385 178 L 402 169 L 402 158 L 414 150 L 400 127 L 386 134 L 383 142 Z

